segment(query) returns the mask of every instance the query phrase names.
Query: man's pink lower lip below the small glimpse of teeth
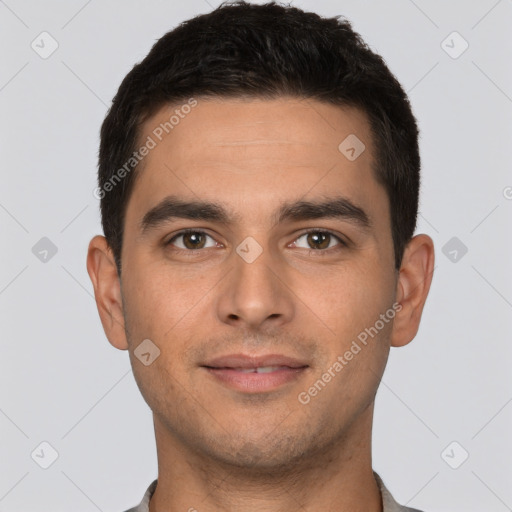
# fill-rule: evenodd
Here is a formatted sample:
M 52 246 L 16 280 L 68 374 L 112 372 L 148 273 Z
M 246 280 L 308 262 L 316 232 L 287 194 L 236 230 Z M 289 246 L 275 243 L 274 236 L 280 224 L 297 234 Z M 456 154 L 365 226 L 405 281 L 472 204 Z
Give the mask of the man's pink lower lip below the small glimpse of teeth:
M 233 368 L 206 368 L 210 375 L 227 386 L 248 393 L 273 391 L 278 387 L 297 380 L 307 369 L 279 368 L 269 373 L 244 373 Z

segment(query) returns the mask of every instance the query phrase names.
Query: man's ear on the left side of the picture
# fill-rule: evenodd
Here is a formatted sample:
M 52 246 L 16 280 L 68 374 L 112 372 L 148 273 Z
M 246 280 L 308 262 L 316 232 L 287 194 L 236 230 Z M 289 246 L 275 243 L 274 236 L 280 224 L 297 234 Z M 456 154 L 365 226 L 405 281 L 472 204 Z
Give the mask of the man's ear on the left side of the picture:
M 114 255 L 104 236 L 97 235 L 89 242 L 87 272 L 94 286 L 96 306 L 109 342 L 119 350 L 127 350 L 121 283 Z

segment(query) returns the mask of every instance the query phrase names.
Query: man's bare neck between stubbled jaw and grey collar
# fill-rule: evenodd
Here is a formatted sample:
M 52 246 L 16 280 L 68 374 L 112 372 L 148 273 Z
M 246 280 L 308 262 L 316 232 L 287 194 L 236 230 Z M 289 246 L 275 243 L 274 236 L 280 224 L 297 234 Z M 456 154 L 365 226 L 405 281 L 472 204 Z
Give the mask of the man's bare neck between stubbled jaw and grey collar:
M 158 485 L 149 510 L 382 512 L 371 464 L 372 416 L 369 407 L 329 446 L 271 467 L 235 467 L 198 453 L 155 416 Z

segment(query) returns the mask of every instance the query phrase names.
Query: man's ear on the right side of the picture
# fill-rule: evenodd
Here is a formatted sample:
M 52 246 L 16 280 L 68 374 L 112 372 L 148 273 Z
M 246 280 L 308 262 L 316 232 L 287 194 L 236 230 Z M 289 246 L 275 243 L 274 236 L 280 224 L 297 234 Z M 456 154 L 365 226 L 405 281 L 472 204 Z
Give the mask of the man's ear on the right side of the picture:
M 428 235 L 416 235 L 402 258 L 396 290 L 402 308 L 395 315 L 391 346 L 402 347 L 416 336 L 433 272 L 434 242 Z

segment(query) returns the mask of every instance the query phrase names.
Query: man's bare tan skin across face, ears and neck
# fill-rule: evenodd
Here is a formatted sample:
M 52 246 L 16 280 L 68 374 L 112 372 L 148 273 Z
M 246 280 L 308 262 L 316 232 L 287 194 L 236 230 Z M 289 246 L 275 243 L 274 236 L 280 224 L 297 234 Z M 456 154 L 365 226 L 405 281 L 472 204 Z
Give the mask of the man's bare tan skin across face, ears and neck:
M 174 108 L 149 119 L 140 140 Z M 366 145 L 355 161 L 338 150 L 349 134 Z M 114 347 L 129 350 L 153 411 L 159 473 L 151 512 L 382 511 L 371 461 L 374 399 L 390 346 L 416 335 L 434 249 L 417 235 L 394 268 L 389 201 L 373 154 L 367 118 L 354 108 L 198 98 L 137 171 L 121 278 L 105 238 L 91 240 L 87 269 L 103 328 Z M 142 235 L 144 214 L 170 194 L 220 203 L 237 217 L 230 225 L 173 219 Z M 284 201 L 338 195 L 367 213 L 369 229 L 347 219 L 272 218 Z M 187 249 L 186 236 L 165 246 L 184 228 L 206 233 L 204 248 Z M 328 249 L 312 250 L 309 228 L 347 245 L 333 237 Z M 236 252 L 248 236 L 263 249 L 252 263 Z M 299 393 L 395 302 L 394 320 L 300 403 Z M 133 351 L 147 338 L 161 353 L 144 366 Z M 279 353 L 309 367 L 275 391 L 248 395 L 200 367 L 231 353 Z

